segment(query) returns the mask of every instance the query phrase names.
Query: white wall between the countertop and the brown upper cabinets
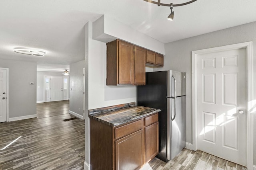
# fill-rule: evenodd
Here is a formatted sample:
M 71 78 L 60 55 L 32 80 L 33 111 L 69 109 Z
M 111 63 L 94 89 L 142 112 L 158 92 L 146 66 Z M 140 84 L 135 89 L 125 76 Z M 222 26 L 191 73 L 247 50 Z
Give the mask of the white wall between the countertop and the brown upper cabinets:
M 106 43 L 89 36 L 88 108 L 136 102 L 136 86 L 106 86 Z

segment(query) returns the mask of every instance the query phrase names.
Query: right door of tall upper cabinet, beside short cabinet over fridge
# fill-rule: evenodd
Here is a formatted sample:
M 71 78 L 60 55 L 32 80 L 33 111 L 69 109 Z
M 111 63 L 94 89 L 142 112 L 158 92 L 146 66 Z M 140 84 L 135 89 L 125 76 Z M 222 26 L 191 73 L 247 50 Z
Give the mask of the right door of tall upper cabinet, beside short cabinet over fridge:
M 134 84 L 146 84 L 146 49 L 134 47 Z

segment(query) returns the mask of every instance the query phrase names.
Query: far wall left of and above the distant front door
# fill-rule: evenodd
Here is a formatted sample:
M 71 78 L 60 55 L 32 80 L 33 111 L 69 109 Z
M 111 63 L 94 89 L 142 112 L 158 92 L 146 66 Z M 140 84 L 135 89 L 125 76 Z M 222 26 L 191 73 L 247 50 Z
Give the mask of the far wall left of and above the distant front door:
M 36 72 L 36 102 L 44 101 L 44 76 L 63 76 L 63 74 L 49 71 Z

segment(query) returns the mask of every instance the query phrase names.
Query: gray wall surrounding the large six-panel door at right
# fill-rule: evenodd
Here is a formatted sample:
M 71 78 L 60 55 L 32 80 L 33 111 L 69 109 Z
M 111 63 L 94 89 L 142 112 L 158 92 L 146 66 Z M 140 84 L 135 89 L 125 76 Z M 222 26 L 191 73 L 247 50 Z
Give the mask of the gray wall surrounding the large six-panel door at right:
M 253 82 L 256 84 L 256 22 L 167 43 L 164 68 L 159 70 L 178 70 L 186 72 L 186 141 L 192 143 L 192 55 L 200 49 L 231 45 L 253 41 Z M 256 107 L 256 90 L 254 86 L 254 112 Z M 255 113 L 254 113 L 255 114 Z M 256 116 L 254 116 L 254 141 L 256 140 Z M 254 165 L 256 165 L 256 142 L 254 142 Z

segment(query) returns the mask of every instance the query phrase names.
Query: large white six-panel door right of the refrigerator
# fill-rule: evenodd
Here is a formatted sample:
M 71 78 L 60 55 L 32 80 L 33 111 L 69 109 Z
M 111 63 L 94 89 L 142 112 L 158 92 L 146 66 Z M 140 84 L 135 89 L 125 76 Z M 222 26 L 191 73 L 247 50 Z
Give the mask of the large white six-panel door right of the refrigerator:
M 246 166 L 246 50 L 199 54 L 197 84 L 198 149 Z

